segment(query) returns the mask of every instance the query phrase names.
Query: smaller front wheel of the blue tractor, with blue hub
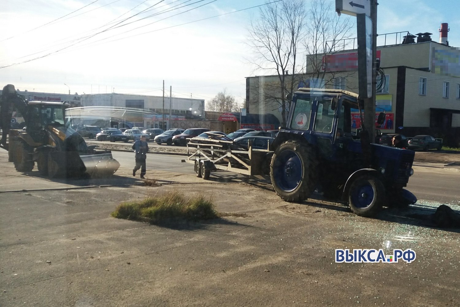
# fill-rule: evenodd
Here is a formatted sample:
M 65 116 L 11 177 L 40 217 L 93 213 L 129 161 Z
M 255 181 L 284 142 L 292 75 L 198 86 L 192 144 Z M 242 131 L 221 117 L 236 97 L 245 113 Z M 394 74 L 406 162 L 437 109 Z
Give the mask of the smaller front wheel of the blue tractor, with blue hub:
M 348 203 L 359 216 L 374 217 L 385 202 L 385 187 L 372 175 L 357 177 L 350 186 Z

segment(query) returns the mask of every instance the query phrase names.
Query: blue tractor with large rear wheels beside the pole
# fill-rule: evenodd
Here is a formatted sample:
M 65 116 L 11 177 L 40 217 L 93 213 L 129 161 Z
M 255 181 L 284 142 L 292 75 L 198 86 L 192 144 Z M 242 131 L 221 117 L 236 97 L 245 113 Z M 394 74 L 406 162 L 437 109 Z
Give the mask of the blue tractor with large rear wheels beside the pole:
M 351 109 L 362 110 L 356 93 L 299 88 L 293 94 L 287 127 L 271 146 L 276 193 L 301 202 L 318 188 L 366 217 L 382 206 L 415 203 L 416 197 L 403 189 L 414 173 L 414 151 L 371 144 L 364 129 L 361 139 L 353 139 Z

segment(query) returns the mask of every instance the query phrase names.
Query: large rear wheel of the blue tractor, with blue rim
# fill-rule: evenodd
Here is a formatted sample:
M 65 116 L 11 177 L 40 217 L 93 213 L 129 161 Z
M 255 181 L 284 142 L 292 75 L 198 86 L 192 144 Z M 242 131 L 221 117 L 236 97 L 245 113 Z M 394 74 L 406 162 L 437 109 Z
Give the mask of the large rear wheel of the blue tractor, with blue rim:
M 276 194 L 287 202 L 301 202 L 315 191 L 317 159 L 313 149 L 298 141 L 286 141 L 273 154 L 270 179 Z

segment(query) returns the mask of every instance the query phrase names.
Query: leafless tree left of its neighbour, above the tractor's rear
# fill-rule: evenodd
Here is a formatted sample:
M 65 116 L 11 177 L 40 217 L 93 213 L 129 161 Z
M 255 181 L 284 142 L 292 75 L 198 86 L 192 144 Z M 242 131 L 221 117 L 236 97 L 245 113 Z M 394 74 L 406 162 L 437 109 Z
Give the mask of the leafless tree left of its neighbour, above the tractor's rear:
M 301 70 L 297 55 L 298 44 L 305 34 L 304 18 L 304 0 L 285 0 L 261 7 L 260 18 L 252 20 L 248 29 L 247 44 L 254 53 L 250 62 L 259 70 L 275 72 L 278 77 L 270 85 L 273 90 L 265 91 L 267 95 L 259 103 L 276 101 L 281 107 L 283 126 L 290 106 L 286 94 L 293 92 L 295 75 Z

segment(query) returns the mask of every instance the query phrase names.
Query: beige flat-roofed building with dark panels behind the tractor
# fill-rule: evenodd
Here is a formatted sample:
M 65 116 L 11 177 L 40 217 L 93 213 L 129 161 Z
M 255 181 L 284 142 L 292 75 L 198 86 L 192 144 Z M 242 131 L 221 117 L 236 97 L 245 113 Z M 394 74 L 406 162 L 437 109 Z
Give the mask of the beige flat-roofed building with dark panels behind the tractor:
M 376 95 L 376 112 L 386 113 L 382 132 L 431 134 L 445 139 L 445 144 L 460 145 L 460 50 L 434 41 L 379 46 L 377 50 L 386 81 Z M 308 74 L 288 75 L 294 90 L 326 87 L 357 93 L 356 49 L 329 55 L 324 62 L 324 80 L 311 80 Z M 247 77 L 247 109 L 274 114 L 282 122 L 279 84 L 277 75 Z M 352 114 L 353 128 L 360 126 L 357 114 Z

